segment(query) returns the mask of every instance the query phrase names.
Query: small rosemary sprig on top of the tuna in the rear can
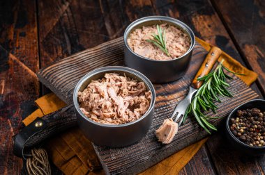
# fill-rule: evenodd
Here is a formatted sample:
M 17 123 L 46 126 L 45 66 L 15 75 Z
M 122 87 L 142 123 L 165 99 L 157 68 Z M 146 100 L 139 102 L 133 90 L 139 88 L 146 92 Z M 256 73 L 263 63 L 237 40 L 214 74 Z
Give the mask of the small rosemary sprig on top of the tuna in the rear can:
M 166 53 L 167 56 L 170 56 L 166 47 L 167 42 L 166 42 L 165 30 L 162 31 L 162 28 L 159 25 L 156 25 L 156 28 L 158 30 L 158 35 L 153 34 L 152 35 L 153 40 L 146 40 L 146 42 L 153 43 L 154 45 L 156 45 L 156 47 L 158 47 L 164 53 Z

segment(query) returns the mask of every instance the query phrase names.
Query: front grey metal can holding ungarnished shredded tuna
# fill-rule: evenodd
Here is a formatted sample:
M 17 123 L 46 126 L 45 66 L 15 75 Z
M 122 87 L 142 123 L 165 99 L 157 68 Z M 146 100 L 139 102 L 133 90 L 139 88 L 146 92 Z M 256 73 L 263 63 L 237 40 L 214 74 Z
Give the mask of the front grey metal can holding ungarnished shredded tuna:
M 109 72 L 115 72 L 122 75 L 126 74 L 126 76 L 130 78 L 135 78 L 138 81 L 142 81 L 145 83 L 146 88 L 151 91 L 151 103 L 149 110 L 147 110 L 141 118 L 127 124 L 100 124 L 89 119 L 89 117 L 86 117 L 86 115 L 82 113 L 79 108 L 77 93 L 79 91 L 82 92 L 92 80 L 103 78 L 105 73 Z M 81 80 L 75 86 L 73 101 L 77 111 L 77 123 L 84 132 L 84 135 L 86 135 L 91 142 L 107 147 L 126 147 L 137 142 L 138 140 L 141 140 L 149 131 L 153 119 L 156 92 L 151 81 L 149 81 L 146 76 L 135 71 L 134 69 L 121 66 L 109 66 L 95 69 L 81 78 Z

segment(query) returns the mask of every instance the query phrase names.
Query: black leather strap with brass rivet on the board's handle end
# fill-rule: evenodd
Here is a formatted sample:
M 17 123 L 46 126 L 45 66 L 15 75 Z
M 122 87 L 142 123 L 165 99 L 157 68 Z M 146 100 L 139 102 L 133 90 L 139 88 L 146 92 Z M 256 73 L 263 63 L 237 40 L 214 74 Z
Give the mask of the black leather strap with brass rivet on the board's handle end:
M 25 148 L 25 144 L 33 137 L 33 135 L 36 135 L 40 131 L 43 131 L 43 129 L 45 128 L 47 128 L 47 122 L 45 122 L 40 117 L 37 117 L 27 127 L 22 128 L 22 131 L 20 131 L 20 133 L 17 133 L 17 135 L 15 135 L 13 138 L 13 152 L 15 156 L 24 158 L 25 160 L 31 157 L 31 151 L 30 149 Z

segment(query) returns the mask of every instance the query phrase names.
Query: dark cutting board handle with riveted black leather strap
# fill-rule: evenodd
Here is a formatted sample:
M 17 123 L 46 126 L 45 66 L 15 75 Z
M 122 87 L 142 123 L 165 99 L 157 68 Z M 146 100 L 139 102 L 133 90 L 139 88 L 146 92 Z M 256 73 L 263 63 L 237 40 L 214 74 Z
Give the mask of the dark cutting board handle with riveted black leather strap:
M 61 108 L 43 117 L 37 117 L 31 124 L 22 128 L 13 137 L 13 153 L 24 158 L 31 157 L 31 149 L 53 135 L 77 126 L 75 107 L 72 105 Z

